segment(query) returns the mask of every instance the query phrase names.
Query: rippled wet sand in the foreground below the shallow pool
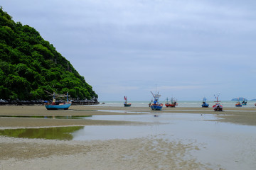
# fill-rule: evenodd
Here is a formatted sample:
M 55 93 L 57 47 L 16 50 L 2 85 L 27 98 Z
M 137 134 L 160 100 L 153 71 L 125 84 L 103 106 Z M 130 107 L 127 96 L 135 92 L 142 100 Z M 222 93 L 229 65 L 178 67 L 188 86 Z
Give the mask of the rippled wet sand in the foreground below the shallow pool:
M 0 141 L 0 169 L 208 169 L 191 157 L 197 146 L 156 137 L 90 142 L 0 137 Z

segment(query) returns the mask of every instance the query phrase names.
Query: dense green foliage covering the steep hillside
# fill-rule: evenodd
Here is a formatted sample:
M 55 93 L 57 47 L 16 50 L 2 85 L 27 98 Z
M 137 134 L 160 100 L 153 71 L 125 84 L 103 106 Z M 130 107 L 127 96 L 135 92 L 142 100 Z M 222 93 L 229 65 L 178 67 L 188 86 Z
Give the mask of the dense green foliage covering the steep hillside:
M 80 100 L 97 98 L 85 78 L 35 28 L 15 23 L 0 8 L 0 98 L 50 99 L 46 91 L 68 91 Z

